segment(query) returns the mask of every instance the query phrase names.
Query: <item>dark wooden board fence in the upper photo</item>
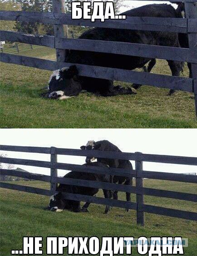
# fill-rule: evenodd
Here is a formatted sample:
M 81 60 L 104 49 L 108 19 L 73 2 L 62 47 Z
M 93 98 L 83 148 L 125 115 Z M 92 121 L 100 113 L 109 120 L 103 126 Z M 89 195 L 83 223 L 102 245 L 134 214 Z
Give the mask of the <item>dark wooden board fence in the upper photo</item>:
M 0 11 L 0 20 L 16 20 L 25 22 L 41 22 L 54 25 L 54 36 L 35 36 L 14 31 L 0 31 L 1 40 L 18 41 L 34 45 L 48 46 L 56 49 L 57 61 L 49 61 L 28 56 L 15 56 L 0 53 L 0 60 L 6 63 L 55 70 L 69 67 L 64 62 L 65 49 L 110 52 L 164 60 L 187 61 L 192 65 L 192 78 L 171 77 L 166 75 L 135 72 L 107 67 L 95 67 L 76 64 L 80 76 L 97 77 L 124 82 L 146 84 L 174 90 L 193 92 L 197 113 L 197 54 L 196 54 L 196 0 L 184 1 L 186 18 L 127 17 L 126 20 L 106 20 L 105 22 L 90 20 L 72 20 L 71 15 L 64 12 L 64 0 L 53 0 L 53 12 Z M 189 48 L 153 46 L 135 43 L 99 41 L 87 39 L 69 39 L 65 37 L 64 24 L 74 26 L 90 26 L 143 31 L 167 31 L 187 33 Z

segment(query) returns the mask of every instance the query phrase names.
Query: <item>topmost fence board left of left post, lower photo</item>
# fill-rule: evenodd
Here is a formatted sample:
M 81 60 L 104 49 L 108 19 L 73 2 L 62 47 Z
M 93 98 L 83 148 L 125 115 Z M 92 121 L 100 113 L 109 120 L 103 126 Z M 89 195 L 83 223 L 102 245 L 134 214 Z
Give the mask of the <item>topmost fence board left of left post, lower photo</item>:
M 29 146 L 0 145 L 0 150 L 4 150 L 4 151 L 15 151 L 15 152 L 28 152 L 28 153 L 50 154 L 51 148 L 45 148 L 45 147 L 29 147 Z

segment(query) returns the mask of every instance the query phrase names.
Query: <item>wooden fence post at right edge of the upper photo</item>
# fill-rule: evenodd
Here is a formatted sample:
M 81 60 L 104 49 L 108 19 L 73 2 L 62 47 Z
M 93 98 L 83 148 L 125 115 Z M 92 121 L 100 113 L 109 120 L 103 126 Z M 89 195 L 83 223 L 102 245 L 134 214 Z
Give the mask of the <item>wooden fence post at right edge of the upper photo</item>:
M 197 18 L 197 6 L 196 3 L 189 3 L 185 2 L 185 15 L 187 19 L 196 19 Z M 188 24 L 188 22 L 187 22 Z M 188 26 L 187 26 L 188 30 Z M 189 49 L 193 51 L 193 54 L 195 55 L 196 52 L 196 36 L 197 33 L 192 32 L 188 33 L 188 42 L 189 42 Z M 195 108 L 196 108 L 196 117 L 197 117 L 197 64 L 190 63 L 191 69 L 192 69 L 192 78 L 194 80 L 193 84 L 193 92 L 194 92 L 194 99 L 195 99 Z

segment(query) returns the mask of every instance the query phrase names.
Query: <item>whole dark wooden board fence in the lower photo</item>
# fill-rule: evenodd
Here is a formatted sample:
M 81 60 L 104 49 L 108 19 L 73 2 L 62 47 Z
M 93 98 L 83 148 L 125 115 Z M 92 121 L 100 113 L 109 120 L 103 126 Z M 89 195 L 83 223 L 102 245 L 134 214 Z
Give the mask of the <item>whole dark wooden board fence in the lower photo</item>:
M 158 215 L 166 215 L 171 217 L 183 218 L 188 220 L 197 220 L 197 213 L 188 212 L 183 210 L 175 210 L 164 207 L 158 207 L 153 205 L 146 205 L 144 203 L 144 195 L 173 198 L 178 200 L 187 200 L 197 202 L 197 195 L 188 194 L 182 192 L 168 191 L 163 189 L 152 189 L 145 188 L 143 186 L 143 178 L 149 179 L 162 179 L 172 180 L 181 182 L 197 183 L 197 176 L 189 174 L 175 174 L 155 171 L 144 171 L 143 162 L 156 162 L 156 163 L 167 163 L 167 164 L 187 164 L 197 165 L 197 158 L 195 157 L 181 157 L 181 156 L 170 156 L 170 155 L 155 155 L 155 154 L 142 154 L 140 152 L 135 153 L 122 153 L 122 152 L 109 152 L 109 151 L 98 151 L 94 150 L 95 157 L 104 157 L 109 159 L 127 159 L 135 161 L 134 170 L 116 169 L 109 168 L 103 169 L 96 166 L 84 166 L 79 164 L 65 164 L 57 162 L 57 155 L 73 155 L 73 156 L 92 156 L 91 150 L 80 150 L 80 149 L 68 149 L 68 148 L 44 148 L 44 147 L 23 147 L 23 146 L 7 146 L 0 145 L 0 150 L 15 151 L 15 152 L 28 152 L 28 153 L 41 153 L 50 154 L 51 161 L 38 161 L 29 159 L 15 159 L 15 158 L 0 158 L 0 163 L 6 164 L 21 164 L 38 166 L 44 168 L 50 168 L 49 175 L 31 174 L 26 172 L 20 172 L 15 170 L 0 169 L 0 174 L 12 175 L 17 177 L 24 177 L 28 179 L 41 180 L 50 182 L 50 190 L 39 189 L 29 186 L 22 186 L 17 184 L 9 184 L 0 182 L 0 186 L 6 189 L 16 189 L 20 191 L 40 194 L 40 195 L 53 195 L 56 191 L 58 183 L 61 184 L 72 184 L 85 187 L 94 187 L 99 189 L 111 189 L 116 191 L 130 192 L 136 194 L 136 202 L 127 202 L 123 200 L 105 199 L 100 197 L 78 195 L 63 193 L 66 199 L 90 202 L 102 205 L 111 205 L 121 208 L 129 208 L 137 211 L 137 223 L 144 225 L 145 212 L 154 213 Z M 124 185 L 124 184 L 112 184 L 107 182 L 96 182 L 82 179 L 70 179 L 64 177 L 57 177 L 57 169 L 72 170 L 76 172 L 84 173 L 95 173 L 95 174 L 109 174 L 119 175 L 124 177 L 135 177 L 136 186 Z

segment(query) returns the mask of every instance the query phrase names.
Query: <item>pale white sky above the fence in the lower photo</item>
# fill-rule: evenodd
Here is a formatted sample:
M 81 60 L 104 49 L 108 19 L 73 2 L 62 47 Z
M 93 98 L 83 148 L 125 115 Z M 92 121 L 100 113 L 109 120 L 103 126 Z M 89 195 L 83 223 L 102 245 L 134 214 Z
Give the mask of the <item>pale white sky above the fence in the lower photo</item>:
M 88 140 L 107 139 L 123 152 L 197 157 L 196 129 L 1 129 L 1 145 L 80 149 Z M 50 161 L 49 154 L 0 151 L 10 158 Z M 84 164 L 85 157 L 58 156 L 59 163 Z M 135 164 L 133 168 L 135 168 Z M 15 165 L 32 173 L 50 174 L 47 168 Z M 143 169 L 173 173 L 197 173 L 197 166 L 143 163 Z M 63 176 L 65 170 L 59 170 Z

